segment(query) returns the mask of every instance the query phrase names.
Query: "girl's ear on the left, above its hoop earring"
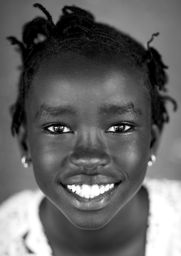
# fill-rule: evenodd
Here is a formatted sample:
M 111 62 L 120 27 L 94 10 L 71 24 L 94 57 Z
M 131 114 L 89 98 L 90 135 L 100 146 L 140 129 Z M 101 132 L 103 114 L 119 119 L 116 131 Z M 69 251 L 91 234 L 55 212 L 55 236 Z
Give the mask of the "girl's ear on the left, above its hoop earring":
M 27 140 L 27 130 L 25 124 L 21 124 L 18 133 L 16 134 L 17 143 L 19 145 L 19 150 L 21 158 L 26 156 L 27 160 L 31 161 L 30 148 Z

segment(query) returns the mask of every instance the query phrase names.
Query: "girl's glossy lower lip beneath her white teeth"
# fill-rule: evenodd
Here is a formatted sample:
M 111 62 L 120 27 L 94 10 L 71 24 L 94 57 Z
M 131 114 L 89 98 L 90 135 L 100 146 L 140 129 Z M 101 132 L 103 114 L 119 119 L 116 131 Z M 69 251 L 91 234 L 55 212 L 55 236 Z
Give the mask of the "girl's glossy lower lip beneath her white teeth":
M 91 199 L 83 198 L 76 193 L 73 193 L 68 188 L 65 188 L 63 185 L 61 185 L 61 187 L 63 188 L 64 195 L 71 205 L 80 210 L 92 211 L 102 209 L 108 205 L 113 199 L 114 195 L 117 193 L 117 189 L 119 188 L 120 183 L 116 184 L 112 189 L 106 191 L 105 193 L 95 196 Z

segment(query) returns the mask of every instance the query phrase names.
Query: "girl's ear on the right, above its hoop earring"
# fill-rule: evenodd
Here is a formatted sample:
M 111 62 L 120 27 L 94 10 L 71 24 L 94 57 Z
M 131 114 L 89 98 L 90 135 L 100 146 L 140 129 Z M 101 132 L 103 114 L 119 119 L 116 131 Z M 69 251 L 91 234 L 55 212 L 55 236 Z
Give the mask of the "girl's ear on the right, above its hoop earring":
M 160 144 L 161 131 L 156 124 L 151 125 L 151 136 L 150 136 L 150 155 L 156 155 L 157 149 Z

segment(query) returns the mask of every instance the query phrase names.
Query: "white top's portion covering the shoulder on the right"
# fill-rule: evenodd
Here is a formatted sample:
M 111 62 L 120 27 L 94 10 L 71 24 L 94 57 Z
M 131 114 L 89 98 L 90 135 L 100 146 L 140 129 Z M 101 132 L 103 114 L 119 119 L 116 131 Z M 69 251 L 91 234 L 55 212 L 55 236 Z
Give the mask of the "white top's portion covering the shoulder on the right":
M 181 181 L 146 178 L 143 186 L 149 198 L 146 255 L 180 255 Z

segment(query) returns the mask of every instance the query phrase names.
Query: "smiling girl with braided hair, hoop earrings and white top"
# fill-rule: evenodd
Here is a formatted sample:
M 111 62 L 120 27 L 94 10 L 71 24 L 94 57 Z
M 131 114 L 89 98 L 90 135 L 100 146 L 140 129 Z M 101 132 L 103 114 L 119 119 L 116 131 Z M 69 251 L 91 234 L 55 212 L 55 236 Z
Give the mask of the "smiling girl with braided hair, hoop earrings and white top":
M 181 255 L 181 184 L 145 179 L 169 116 L 166 66 L 65 6 L 24 26 L 12 133 L 40 190 L 0 208 L 1 255 Z

